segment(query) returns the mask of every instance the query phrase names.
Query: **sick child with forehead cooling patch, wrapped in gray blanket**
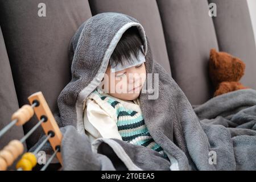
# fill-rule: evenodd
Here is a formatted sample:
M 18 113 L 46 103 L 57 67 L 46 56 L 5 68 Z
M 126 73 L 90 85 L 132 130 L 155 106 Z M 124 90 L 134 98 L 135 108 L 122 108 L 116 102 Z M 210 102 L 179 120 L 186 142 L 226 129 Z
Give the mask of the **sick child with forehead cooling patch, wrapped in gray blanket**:
M 139 106 L 146 80 L 144 62 L 138 29 L 130 27 L 115 47 L 101 85 L 85 100 L 84 127 L 92 143 L 97 138 L 117 138 L 164 155 L 150 136 Z

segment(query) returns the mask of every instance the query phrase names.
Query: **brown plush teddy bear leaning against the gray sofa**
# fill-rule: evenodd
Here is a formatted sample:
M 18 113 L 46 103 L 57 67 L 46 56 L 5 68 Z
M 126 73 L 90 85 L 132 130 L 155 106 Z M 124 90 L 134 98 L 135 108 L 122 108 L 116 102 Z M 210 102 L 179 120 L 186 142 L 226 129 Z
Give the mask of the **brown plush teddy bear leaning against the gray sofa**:
M 209 75 L 215 88 L 214 96 L 247 89 L 238 82 L 245 72 L 245 63 L 226 52 L 210 50 Z

